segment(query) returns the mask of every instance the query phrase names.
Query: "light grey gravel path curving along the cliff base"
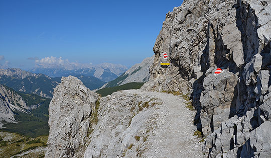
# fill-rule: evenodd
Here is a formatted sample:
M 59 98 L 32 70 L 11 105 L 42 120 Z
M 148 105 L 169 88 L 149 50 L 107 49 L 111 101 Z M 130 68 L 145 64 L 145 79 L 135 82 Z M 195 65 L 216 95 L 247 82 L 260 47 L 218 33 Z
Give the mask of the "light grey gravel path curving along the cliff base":
M 127 93 L 151 96 L 163 101 L 156 106 L 153 134 L 149 136 L 148 152 L 144 157 L 205 157 L 200 138 L 193 136 L 195 111 L 186 108 L 186 101 L 181 96 L 167 93 L 127 90 Z

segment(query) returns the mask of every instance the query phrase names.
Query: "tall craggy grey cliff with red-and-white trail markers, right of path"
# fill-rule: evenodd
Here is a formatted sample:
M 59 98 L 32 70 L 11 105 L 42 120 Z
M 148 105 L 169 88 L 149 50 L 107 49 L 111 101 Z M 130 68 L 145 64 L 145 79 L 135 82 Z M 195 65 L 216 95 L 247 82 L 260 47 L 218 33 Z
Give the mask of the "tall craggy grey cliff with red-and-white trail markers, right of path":
M 142 89 L 188 93 L 209 157 L 270 157 L 271 1 L 184 1 L 157 37 Z M 163 52 L 169 53 L 168 67 Z M 216 68 L 223 72 L 214 75 Z

